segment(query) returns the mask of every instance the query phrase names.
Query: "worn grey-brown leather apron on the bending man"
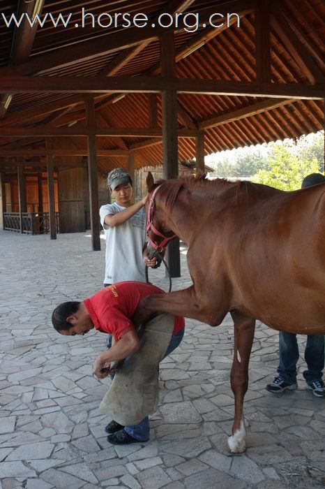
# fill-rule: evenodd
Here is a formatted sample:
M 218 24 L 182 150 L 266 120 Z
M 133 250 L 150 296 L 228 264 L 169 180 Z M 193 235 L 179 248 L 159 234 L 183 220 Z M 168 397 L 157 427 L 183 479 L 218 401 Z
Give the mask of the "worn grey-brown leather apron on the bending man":
M 116 371 L 99 410 L 124 426 L 136 425 L 158 407 L 159 363 L 169 346 L 174 316 L 159 314 L 146 324 L 140 347 Z

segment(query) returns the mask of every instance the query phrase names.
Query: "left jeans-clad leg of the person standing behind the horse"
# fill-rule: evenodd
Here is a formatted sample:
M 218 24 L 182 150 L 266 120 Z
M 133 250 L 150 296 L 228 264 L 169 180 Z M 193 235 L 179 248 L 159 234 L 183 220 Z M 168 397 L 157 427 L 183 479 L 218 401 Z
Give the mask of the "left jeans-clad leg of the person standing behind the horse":
M 296 335 L 280 331 L 278 374 L 289 385 L 296 383 L 298 359 L 299 350 Z

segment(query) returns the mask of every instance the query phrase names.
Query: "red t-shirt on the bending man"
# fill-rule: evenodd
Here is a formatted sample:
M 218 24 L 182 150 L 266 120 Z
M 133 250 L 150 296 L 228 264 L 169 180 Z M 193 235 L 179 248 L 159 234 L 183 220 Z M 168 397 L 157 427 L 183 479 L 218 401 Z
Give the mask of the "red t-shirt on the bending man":
M 135 327 L 131 318 L 139 301 L 153 293 L 164 291 L 144 282 L 118 282 L 84 299 L 84 305 L 98 331 L 111 333 L 120 340 Z M 184 318 L 175 316 L 173 335 L 183 327 Z

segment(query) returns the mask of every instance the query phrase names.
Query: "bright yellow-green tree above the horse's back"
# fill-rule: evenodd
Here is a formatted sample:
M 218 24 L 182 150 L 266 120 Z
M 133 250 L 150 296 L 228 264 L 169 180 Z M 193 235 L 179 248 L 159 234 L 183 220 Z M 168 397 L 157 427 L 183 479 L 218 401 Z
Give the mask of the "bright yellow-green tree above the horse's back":
M 319 171 L 316 158 L 309 161 L 301 159 L 281 143 L 273 146 L 267 164 L 268 168 L 259 170 L 252 181 L 280 190 L 300 189 L 303 177 Z

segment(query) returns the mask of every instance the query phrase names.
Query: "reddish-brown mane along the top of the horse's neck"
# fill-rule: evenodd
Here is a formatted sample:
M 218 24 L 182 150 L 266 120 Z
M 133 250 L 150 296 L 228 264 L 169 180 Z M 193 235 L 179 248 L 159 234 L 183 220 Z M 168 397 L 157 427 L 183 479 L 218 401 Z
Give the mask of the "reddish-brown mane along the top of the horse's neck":
M 185 177 L 179 177 L 174 180 L 158 180 L 155 187 L 160 186 L 159 197 L 165 201 L 165 212 L 169 212 L 179 195 L 181 189 L 190 187 L 234 187 L 236 188 L 235 198 L 238 201 L 240 196 L 244 196 L 252 191 L 263 191 L 266 194 L 273 193 L 275 189 L 272 187 L 267 187 L 266 185 L 255 184 L 253 182 L 248 182 L 246 180 L 236 180 L 235 182 L 230 182 L 225 178 L 216 178 L 215 180 L 209 180 L 206 178 L 206 173 L 199 171 L 196 175 L 190 175 Z M 269 190 L 269 192 L 268 192 Z

